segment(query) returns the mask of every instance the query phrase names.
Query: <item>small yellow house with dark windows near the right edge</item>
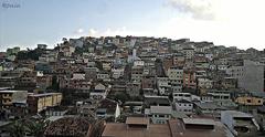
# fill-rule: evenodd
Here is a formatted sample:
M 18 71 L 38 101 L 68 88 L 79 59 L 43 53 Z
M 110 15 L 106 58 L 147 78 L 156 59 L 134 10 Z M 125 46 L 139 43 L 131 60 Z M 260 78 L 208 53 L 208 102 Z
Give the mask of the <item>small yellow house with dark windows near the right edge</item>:
M 259 106 L 263 105 L 263 98 L 252 96 L 240 96 L 235 99 L 235 103 L 250 106 Z

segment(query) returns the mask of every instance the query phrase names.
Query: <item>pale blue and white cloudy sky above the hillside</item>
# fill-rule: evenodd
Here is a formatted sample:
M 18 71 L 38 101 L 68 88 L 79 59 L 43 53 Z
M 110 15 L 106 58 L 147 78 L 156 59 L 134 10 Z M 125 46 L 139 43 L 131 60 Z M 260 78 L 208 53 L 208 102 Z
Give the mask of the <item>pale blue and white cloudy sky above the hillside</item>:
M 189 38 L 265 49 L 265 0 L 0 0 L 0 51 L 62 38 Z

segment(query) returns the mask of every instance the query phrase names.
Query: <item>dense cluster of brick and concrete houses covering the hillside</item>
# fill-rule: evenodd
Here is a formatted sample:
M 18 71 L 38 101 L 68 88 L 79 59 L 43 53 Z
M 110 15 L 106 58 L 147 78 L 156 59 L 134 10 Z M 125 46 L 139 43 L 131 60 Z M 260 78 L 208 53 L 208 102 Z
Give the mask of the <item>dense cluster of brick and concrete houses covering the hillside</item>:
M 256 135 L 264 85 L 265 51 L 189 39 L 84 36 L 0 53 L 1 119 L 43 114 L 47 136 L 77 136 L 55 130 L 65 117 L 91 135 L 77 116 L 104 120 L 103 137 Z

